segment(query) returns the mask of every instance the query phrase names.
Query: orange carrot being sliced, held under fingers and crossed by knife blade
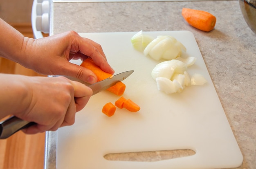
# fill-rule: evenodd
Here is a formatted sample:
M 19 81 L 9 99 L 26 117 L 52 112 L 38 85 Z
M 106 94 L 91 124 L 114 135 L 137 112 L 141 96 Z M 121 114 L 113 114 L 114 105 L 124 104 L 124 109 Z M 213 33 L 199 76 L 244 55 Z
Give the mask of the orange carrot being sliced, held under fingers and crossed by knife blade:
M 101 70 L 101 68 L 97 66 L 92 59 L 85 59 L 80 66 L 83 66 L 85 68 L 92 70 L 92 72 L 94 72 L 94 74 L 98 77 L 98 81 L 112 77 L 110 73 L 107 73 Z M 126 85 L 123 82 L 119 81 L 114 86 L 111 86 L 107 90 L 116 94 L 117 96 L 121 96 L 122 94 L 124 94 L 125 89 L 126 89 Z

